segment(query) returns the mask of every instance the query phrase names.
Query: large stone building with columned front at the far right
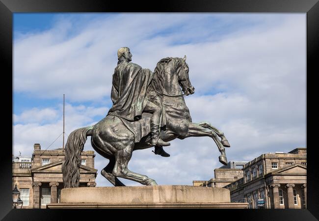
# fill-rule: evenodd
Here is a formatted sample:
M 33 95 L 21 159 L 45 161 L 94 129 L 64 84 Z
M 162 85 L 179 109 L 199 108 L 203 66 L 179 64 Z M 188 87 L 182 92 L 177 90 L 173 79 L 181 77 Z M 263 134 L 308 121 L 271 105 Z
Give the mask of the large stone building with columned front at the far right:
M 262 154 L 245 164 L 243 174 L 225 186 L 231 202 L 248 202 L 249 208 L 307 207 L 306 148 Z

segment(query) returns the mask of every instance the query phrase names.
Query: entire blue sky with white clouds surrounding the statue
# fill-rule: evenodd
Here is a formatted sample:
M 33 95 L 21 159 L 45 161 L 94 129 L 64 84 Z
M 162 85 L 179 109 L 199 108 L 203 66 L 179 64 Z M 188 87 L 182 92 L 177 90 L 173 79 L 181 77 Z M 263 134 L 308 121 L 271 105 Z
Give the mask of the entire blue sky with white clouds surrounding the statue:
M 306 146 L 306 14 L 15 13 L 13 153 L 46 149 L 62 132 L 94 125 L 111 107 L 117 49 L 154 70 L 166 56 L 187 56 L 195 94 L 193 122 L 210 121 L 232 147 L 229 161 Z M 297 88 L 297 90 L 296 90 Z M 59 138 L 50 149 L 60 147 Z M 90 142 L 84 149 L 93 150 Z M 209 180 L 222 166 L 210 138 L 171 141 L 170 158 L 134 151 L 133 171 L 161 185 Z M 100 173 L 106 159 L 97 154 Z M 162 171 L 165 171 L 163 174 Z M 122 180 L 127 185 L 139 185 Z M 100 174 L 98 186 L 110 184 Z

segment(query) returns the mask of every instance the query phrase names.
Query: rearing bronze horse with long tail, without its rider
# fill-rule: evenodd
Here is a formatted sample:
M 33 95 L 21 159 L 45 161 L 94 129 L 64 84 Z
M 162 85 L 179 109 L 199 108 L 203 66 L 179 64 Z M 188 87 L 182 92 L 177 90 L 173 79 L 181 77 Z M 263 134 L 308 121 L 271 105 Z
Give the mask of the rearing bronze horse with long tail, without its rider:
M 148 90 L 149 92 L 154 91 L 162 98 L 166 112 L 166 128 L 160 132 L 160 137 L 164 141 L 175 138 L 211 137 L 221 153 L 219 161 L 227 165 L 225 147 L 230 147 L 230 145 L 224 134 L 209 122 L 193 123 L 191 121 L 184 100 L 184 95 L 194 93 L 194 87 L 188 78 L 188 71 L 186 56 L 184 58 L 163 58 L 155 68 Z M 151 140 L 150 118 L 151 113 L 146 112 L 142 113 L 142 118 L 138 121 L 128 121 L 107 115 L 94 126 L 73 131 L 65 145 L 65 158 L 62 164 L 64 187 L 79 186 L 80 154 L 88 136 L 91 136 L 93 149 L 109 160 L 101 174 L 114 186 L 125 186 L 117 177 L 130 179 L 143 185 L 157 185 L 155 180 L 128 169 L 128 163 L 134 150 L 152 147 L 149 144 Z M 136 136 L 139 140 L 137 143 L 134 142 Z

